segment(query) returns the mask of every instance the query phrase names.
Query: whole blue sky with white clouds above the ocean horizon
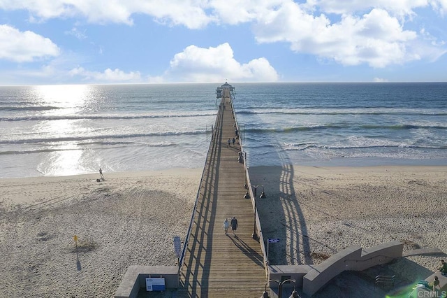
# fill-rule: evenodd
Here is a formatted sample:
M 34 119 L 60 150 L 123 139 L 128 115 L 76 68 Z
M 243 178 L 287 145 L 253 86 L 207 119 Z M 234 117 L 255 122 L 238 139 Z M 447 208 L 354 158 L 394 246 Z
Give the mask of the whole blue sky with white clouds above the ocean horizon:
M 447 0 L 0 0 L 0 85 L 447 81 Z

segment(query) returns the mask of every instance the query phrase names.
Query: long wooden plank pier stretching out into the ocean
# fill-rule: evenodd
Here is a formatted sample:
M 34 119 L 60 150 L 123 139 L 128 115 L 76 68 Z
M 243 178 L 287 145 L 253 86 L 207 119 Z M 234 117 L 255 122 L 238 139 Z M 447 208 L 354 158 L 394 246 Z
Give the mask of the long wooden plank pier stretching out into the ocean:
M 219 113 L 198 192 L 196 213 L 184 253 L 178 297 L 260 297 L 265 288 L 263 253 L 252 239 L 254 209 L 244 199 L 246 173 L 238 162 L 235 115 L 230 92 L 223 90 Z M 223 221 L 237 219 L 236 236 Z

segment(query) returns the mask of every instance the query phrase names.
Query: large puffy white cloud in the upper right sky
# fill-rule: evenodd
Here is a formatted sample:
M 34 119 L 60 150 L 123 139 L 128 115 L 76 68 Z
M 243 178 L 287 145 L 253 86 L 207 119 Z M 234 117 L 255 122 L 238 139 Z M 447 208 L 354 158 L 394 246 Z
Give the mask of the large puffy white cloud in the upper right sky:
M 314 17 L 295 3 L 288 3 L 265 15 L 255 27 L 261 43 L 286 41 L 295 52 L 306 52 L 344 65 L 369 64 L 385 67 L 402 64 L 424 55 L 412 48 L 418 35 L 404 30 L 386 10 L 373 9 L 356 17 L 344 15 L 331 23 L 328 17 Z

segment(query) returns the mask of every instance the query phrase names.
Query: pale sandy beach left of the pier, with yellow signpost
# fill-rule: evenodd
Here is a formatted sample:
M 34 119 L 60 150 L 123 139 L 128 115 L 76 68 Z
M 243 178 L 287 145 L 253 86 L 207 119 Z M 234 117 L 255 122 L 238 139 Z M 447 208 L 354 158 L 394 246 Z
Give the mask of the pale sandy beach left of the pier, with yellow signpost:
M 1 179 L 0 297 L 113 297 L 130 265 L 177 264 L 201 174 Z

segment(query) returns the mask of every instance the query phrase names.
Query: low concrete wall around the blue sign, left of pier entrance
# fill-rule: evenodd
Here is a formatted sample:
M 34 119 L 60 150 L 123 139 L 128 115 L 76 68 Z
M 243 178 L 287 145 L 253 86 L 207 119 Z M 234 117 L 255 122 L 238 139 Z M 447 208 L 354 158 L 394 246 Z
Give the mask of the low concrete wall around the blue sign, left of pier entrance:
M 130 266 L 122 279 L 115 298 L 137 297 L 140 289 L 146 290 L 147 277 L 165 278 L 166 288 L 179 287 L 179 267 L 177 266 Z

